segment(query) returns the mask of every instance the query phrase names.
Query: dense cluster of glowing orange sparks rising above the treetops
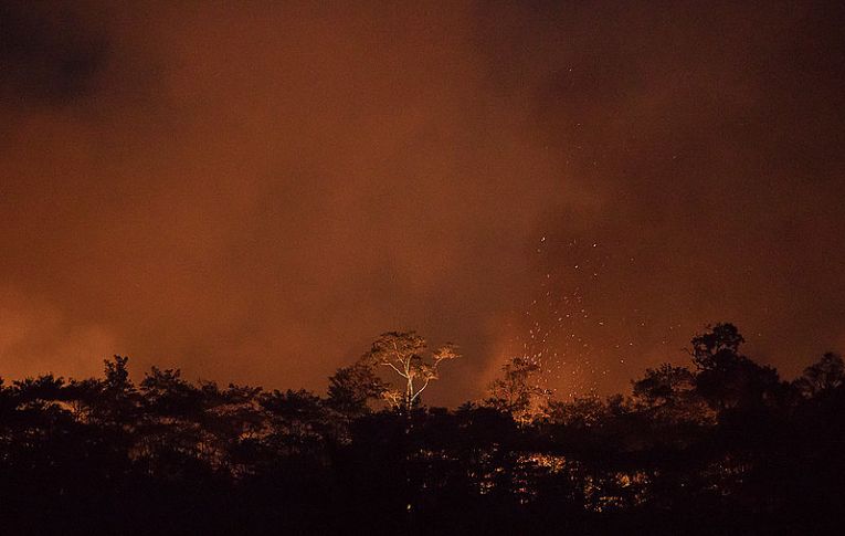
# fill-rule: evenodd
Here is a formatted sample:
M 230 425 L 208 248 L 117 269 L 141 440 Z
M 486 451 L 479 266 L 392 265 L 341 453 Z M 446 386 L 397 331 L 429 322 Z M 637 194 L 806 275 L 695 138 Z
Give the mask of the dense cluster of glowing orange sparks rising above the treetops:
M 619 381 L 638 372 L 629 369 L 632 362 L 683 358 L 684 329 L 670 312 L 643 311 L 635 294 L 630 305 L 619 305 L 619 293 L 629 291 L 613 282 L 637 270 L 634 256 L 599 240 L 537 240 L 538 283 L 510 326 L 515 335 L 506 354 L 539 366 L 535 387 L 558 400 L 619 392 Z

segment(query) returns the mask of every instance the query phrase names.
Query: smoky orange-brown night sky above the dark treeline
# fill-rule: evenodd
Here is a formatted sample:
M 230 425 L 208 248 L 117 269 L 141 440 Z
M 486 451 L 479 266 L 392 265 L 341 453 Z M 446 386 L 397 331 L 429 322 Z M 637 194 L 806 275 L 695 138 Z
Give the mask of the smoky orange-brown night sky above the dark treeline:
M 380 333 L 560 398 L 845 349 L 841 2 L 0 0 L 0 376 L 323 391 Z

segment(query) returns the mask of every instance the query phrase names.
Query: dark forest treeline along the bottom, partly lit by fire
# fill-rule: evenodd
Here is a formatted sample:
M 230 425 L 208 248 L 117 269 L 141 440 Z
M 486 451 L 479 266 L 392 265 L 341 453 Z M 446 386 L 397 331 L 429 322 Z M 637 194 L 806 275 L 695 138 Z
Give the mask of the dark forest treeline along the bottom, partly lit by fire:
M 155 367 L 134 383 L 119 356 L 0 382 L 0 532 L 842 534 L 842 359 L 785 381 L 741 345 L 718 324 L 688 367 L 566 401 L 515 358 L 454 410 L 422 390 L 456 348 L 399 333 L 325 398 Z

